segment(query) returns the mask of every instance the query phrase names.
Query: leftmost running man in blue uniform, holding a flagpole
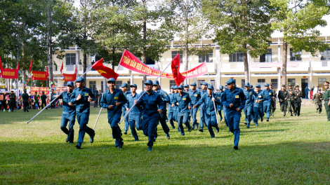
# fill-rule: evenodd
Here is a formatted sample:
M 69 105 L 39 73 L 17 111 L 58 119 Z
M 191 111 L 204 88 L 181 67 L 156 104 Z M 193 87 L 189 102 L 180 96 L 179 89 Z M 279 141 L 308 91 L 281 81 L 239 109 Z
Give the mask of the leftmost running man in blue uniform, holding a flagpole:
M 67 139 L 65 142 L 70 142 L 73 144 L 74 139 L 74 122 L 76 121 L 76 107 L 70 102 L 71 94 L 73 91 L 74 85 L 72 81 L 67 82 L 67 90 L 62 93 L 62 95 L 55 95 L 55 98 L 63 99 L 63 111 L 62 118 L 60 121 L 60 129 L 65 132 Z M 67 122 L 69 122 L 69 130 L 67 130 Z

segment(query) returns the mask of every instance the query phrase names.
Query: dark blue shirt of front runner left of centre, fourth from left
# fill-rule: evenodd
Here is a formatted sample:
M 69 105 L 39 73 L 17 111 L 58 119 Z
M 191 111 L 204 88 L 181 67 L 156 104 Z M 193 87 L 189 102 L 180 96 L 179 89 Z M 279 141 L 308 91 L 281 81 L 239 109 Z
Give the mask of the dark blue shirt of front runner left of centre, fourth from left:
M 142 94 L 141 94 L 142 95 Z M 164 102 L 161 100 L 161 95 L 159 93 L 155 93 L 153 90 L 148 95 L 145 93 L 140 100 L 136 103 L 136 106 L 143 107 L 142 114 L 143 116 L 152 116 L 154 114 L 159 115 L 158 107 L 162 111 L 164 111 Z

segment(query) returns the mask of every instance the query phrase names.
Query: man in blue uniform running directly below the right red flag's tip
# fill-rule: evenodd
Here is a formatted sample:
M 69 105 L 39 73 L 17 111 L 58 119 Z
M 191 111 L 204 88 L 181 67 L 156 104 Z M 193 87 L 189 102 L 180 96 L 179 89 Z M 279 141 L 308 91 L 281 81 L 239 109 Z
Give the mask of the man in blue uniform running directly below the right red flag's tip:
M 188 121 L 189 110 L 191 107 L 191 100 L 188 93 L 183 92 L 183 85 L 178 86 L 178 94 L 171 100 L 171 107 L 178 105 L 178 127 L 180 128 L 181 135 L 185 135 L 183 130 L 183 123 L 187 125 L 188 131 L 191 132 L 190 123 Z

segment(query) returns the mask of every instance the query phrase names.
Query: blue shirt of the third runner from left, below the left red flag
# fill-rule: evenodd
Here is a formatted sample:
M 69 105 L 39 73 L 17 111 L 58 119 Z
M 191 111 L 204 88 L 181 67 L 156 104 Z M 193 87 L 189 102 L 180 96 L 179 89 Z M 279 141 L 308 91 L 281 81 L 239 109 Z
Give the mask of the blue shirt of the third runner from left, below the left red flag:
M 120 103 L 119 106 L 116 106 L 116 102 Z M 124 95 L 124 92 L 119 89 L 114 89 L 113 93 L 110 93 L 110 90 L 105 91 L 100 101 L 101 107 L 107 109 L 107 114 L 112 115 L 121 114 L 121 108 L 126 103 L 127 99 Z M 113 105 L 111 109 L 108 108 L 110 105 Z

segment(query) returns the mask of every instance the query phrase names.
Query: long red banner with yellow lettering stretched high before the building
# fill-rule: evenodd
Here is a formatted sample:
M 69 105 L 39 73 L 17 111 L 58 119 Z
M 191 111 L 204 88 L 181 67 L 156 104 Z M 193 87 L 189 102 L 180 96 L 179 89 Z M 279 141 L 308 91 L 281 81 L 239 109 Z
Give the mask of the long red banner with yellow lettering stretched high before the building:
M 136 71 L 141 74 L 147 74 L 150 76 L 158 76 L 159 74 L 161 74 L 161 71 L 147 67 L 147 65 L 143 64 L 140 60 L 138 60 L 136 56 L 134 56 L 128 50 L 124 51 L 123 55 L 121 56 L 119 65 L 121 65 L 122 67 L 126 67 L 127 69 L 130 69 L 132 71 Z M 206 63 L 204 62 L 199 66 L 194 67 L 193 69 L 190 69 L 188 71 L 184 71 L 180 74 L 185 76 L 185 78 L 195 78 L 197 76 L 202 76 L 206 73 L 207 67 Z M 164 72 L 163 74 L 161 74 L 161 77 L 173 78 L 173 74 Z

